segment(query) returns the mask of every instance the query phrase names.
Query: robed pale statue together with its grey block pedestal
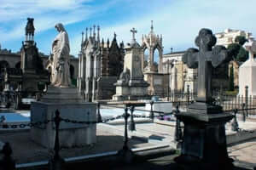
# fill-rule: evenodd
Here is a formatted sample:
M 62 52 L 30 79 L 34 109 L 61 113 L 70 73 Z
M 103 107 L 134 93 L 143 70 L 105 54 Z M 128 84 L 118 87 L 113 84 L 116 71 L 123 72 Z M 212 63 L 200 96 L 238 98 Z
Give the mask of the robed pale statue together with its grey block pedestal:
M 71 86 L 69 75 L 69 41 L 67 31 L 59 23 L 55 25 L 59 34 L 52 43 L 51 84 L 43 98 L 32 103 L 31 122 L 44 122 L 60 111 L 63 119 L 82 122 L 96 122 L 96 104 L 84 103 L 77 88 Z M 31 137 L 38 144 L 54 148 L 54 122 L 31 128 Z M 73 147 L 96 143 L 96 124 L 75 124 L 61 122 L 59 139 L 61 147 Z

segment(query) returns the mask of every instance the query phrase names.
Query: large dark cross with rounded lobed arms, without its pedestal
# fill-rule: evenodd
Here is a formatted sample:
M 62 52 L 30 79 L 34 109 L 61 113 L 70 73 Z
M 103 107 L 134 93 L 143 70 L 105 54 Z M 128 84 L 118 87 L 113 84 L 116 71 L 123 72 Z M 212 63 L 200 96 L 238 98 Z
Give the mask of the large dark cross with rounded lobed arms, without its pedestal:
M 224 46 L 215 46 L 216 37 L 212 35 L 212 31 L 206 28 L 199 31 L 199 35 L 195 38 L 197 48 L 189 48 L 183 54 L 183 63 L 189 68 L 198 68 L 197 82 L 197 102 L 211 103 L 211 81 L 212 66 L 215 68 L 224 62 L 230 61 L 228 52 Z

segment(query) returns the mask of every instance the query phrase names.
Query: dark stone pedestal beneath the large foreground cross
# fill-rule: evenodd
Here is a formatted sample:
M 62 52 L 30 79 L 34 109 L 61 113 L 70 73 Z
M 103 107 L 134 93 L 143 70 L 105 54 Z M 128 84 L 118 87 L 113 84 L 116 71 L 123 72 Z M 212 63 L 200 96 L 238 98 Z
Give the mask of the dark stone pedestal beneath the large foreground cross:
M 178 113 L 184 124 L 182 154 L 175 161 L 189 169 L 231 169 L 225 123 L 233 116 L 218 105 L 195 102 L 188 112 Z

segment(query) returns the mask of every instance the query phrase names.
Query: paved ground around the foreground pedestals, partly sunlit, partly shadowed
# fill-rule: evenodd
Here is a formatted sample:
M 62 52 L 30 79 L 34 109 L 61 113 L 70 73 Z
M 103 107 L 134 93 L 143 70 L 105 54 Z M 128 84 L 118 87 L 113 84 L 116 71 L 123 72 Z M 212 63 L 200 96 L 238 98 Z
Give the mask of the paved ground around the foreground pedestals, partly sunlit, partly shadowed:
M 173 134 L 175 122 L 142 122 L 136 120 L 136 131 L 129 131 L 129 148 L 143 155 L 144 152 L 151 149 L 159 153 L 168 153 L 167 156 L 148 157 L 147 160 L 136 161 L 132 165 L 122 166 L 109 164 L 105 169 L 176 169 L 173 157 L 177 156 L 171 150 L 175 148 L 173 143 Z M 138 123 L 140 122 L 140 123 Z M 241 131 L 239 133 L 230 131 L 230 123 L 226 126 L 227 138 L 233 138 L 229 143 L 229 156 L 235 160 L 238 167 L 247 167 L 253 169 L 256 167 L 256 125 L 253 121 L 239 122 Z M 66 160 L 70 158 L 88 159 L 96 156 L 112 156 L 121 150 L 124 144 L 124 125 L 120 123 L 98 123 L 96 129 L 96 144 L 86 145 L 72 149 L 61 149 L 60 155 Z M 242 137 L 250 134 L 247 138 Z M 242 139 L 242 140 L 240 140 Z M 15 131 L 0 131 L 0 141 L 9 142 L 13 149 L 13 157 L 18 165 L 26 167 L 34 163 L 45 164 L 52 156 L 52 150 L 47 150 L 30 139 L 29 129 Z M 1 144 L 1 143 L 0 143 Z M 145 151 L 146 150 L 146 151 Z M 166 151 L 167 150 L 167 151 Z M 155 152 L 156 153 L 156 152 Z M 79 158 L 78 158 L 79 159 Z M 27 164 L 31 163 L 31 164 Z M 108 163 L 107 163 L 108 164 Z M 102 164 L 103 165 L 103 164 Z M 93 169 L 93 168 L 92 168 Z M 98 167 L 96 168 L 98 169 Z

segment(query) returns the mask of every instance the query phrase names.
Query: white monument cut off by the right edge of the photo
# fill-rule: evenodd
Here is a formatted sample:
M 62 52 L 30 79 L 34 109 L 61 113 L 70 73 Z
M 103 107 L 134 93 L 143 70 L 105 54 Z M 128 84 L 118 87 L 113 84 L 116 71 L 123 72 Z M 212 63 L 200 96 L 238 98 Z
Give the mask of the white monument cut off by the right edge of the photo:
M 253 55 L 256 54 L 256 42 L 249 39 L 244 44 L 249 51 L 249 59 L 239 67 L 239 95 L 246 96 L 246 86 L 248 88 L 248 96 L 256 95 L 256 61 Z

